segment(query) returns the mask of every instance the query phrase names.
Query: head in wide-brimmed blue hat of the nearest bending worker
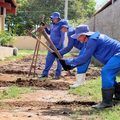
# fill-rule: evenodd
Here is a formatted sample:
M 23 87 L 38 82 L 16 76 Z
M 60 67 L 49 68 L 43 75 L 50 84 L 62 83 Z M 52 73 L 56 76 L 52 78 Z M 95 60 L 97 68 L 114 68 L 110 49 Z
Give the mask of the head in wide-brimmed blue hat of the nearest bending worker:
M 88 25 L 79 25 L 75 29 L 75 34 L 71 37 L 77 39 L 80 42 L 86 42 L 88 37 L 91 36 L 94 32 L 90 32 Z

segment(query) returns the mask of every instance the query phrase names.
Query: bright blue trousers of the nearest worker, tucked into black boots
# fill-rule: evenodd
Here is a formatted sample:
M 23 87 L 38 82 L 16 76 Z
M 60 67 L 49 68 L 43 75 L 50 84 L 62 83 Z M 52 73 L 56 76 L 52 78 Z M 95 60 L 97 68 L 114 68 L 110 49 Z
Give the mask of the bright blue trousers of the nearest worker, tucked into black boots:
M 104 65 L 101 76 L 102 76 L 102 88 L 109 89 L 117 84 L 116 76 L 120 71 L 120 55 L 115 55 Z

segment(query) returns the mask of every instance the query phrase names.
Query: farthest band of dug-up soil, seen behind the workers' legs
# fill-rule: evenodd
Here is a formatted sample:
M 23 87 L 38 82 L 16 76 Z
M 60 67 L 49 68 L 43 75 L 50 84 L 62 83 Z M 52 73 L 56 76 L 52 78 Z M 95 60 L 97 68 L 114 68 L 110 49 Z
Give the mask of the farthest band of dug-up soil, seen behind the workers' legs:
M 29 73 L 30 65 L 31 65 L 32 56 L 26 57 L 24 59 L 11 62 L 7 65 L 3 65 L 0 67 L 0 73 L 3 74 L 16 74 L 16 75 L 27 75 Z M 45 56 L 40 56 L 40 61 L 37 62 L 36 74 L 42 73 L 42 70 L 45 67 Z M 51 77 L 54 76 L 56 64 L 53 64 L 49 75 Z M 74 73 L 74 70 L 71 70 L 71 73 Z M 75 72 L 76 73 L 76 72 Z M 32 73 L 33 74 L 33 70 Z M 65 77 L 66 71 L 62 71 L 62 75 Z M 95 68 L 94 65 L 90 65 L 87 73 L 86 80 L 95 79 L 100 75 L 100 68 Z

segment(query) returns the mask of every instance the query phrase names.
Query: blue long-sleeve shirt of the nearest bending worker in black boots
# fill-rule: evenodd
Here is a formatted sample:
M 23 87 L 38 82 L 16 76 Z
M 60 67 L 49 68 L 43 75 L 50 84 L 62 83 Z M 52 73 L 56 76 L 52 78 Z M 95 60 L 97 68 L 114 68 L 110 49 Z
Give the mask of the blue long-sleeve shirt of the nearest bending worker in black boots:
M 95 33 L 96 34 L 96 33 Z M 106 64 L 114 55 L 120 55 L 120 42 L 104 34 L 92 35 L 84 46 L 84 54 L 66 60 L 66 64 L 77 66 L 86 63 L 94 56 L 101 63 Z

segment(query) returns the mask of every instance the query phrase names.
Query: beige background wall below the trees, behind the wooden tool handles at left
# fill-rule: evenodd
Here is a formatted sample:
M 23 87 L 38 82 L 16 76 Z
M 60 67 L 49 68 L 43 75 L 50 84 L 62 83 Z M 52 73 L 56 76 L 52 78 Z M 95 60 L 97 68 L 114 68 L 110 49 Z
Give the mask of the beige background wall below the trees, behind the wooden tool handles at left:
M 41 41 L 46 43 L 44 37 L 41 38 Z M 35 45 L 36 39 L 30 36 L 18 36 L 15 38 L 15 41 L 13 43 L 13 46 L 17 47 L 18 49 L 34 49 Z M 46 50 L 46 48 L 40 45 L 40 50 Z

